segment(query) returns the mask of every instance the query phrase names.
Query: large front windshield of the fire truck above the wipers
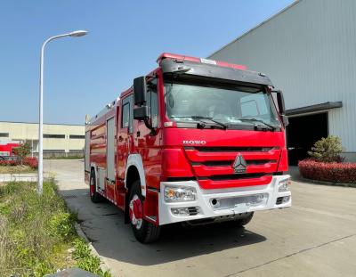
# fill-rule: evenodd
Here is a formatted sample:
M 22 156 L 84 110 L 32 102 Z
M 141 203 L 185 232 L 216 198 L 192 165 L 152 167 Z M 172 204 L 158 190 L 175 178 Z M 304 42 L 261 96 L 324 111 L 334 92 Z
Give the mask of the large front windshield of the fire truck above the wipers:
M 176 122 L 211 118 L 227 126 L 280 127 L 270 97 L 261 87 L 165 83 L 166 113 Z

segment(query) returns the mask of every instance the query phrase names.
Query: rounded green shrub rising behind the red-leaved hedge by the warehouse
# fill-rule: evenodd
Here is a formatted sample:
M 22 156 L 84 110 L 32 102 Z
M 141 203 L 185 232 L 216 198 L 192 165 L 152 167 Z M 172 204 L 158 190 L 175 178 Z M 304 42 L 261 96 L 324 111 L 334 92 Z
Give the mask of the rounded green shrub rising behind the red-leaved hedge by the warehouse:
M 341 162 L 344 158 L 341 156 L 343 145 L 339 137 L 329 135 L 327 138 L 321 138 L 320 141 L 314 143 L 312 151 L 308 154 L 320 162 Z

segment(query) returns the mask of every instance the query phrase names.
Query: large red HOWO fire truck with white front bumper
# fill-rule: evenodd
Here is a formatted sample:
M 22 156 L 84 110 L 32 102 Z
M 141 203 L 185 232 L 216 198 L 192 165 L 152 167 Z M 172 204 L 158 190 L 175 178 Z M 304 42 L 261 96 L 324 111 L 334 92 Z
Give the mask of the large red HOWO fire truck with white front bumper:
M 137 240 L 162 225 L 231 221 L 291 206 L 287 117 L 269 77 L 171 53 L 85 127 L 85 182 Z M 223 224 L 222 224 L 223 226 Z

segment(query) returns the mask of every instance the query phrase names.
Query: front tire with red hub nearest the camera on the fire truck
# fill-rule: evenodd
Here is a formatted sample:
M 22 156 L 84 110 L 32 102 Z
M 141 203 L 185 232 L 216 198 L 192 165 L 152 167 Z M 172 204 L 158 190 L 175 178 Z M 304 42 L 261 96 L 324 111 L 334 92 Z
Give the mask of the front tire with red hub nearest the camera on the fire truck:
M 130 224 L 133 228 L 136 240 L 142 243 L 150 243 L 158 240 L 161 228 L 143 218 L 143 201 L 141 182 L 138 180 L 133 183 L 130 190 L 128 202 Z

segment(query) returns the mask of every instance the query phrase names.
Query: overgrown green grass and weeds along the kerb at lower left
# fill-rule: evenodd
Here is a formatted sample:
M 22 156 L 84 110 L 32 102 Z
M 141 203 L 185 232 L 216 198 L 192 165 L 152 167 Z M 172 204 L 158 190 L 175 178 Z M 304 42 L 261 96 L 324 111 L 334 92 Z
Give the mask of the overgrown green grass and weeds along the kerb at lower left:
M 84 241 L 76 247 L 77 256 L 67 259 L 68 249 L 78 238 L 76 219 L 53 180 L 44 182 L 41 196 L 36 193 L 36 183 L 1 185 L 0 276 L 44 276 L 74 265 L 109 276 L 101 271 L 99 258 L 91 255 Z

